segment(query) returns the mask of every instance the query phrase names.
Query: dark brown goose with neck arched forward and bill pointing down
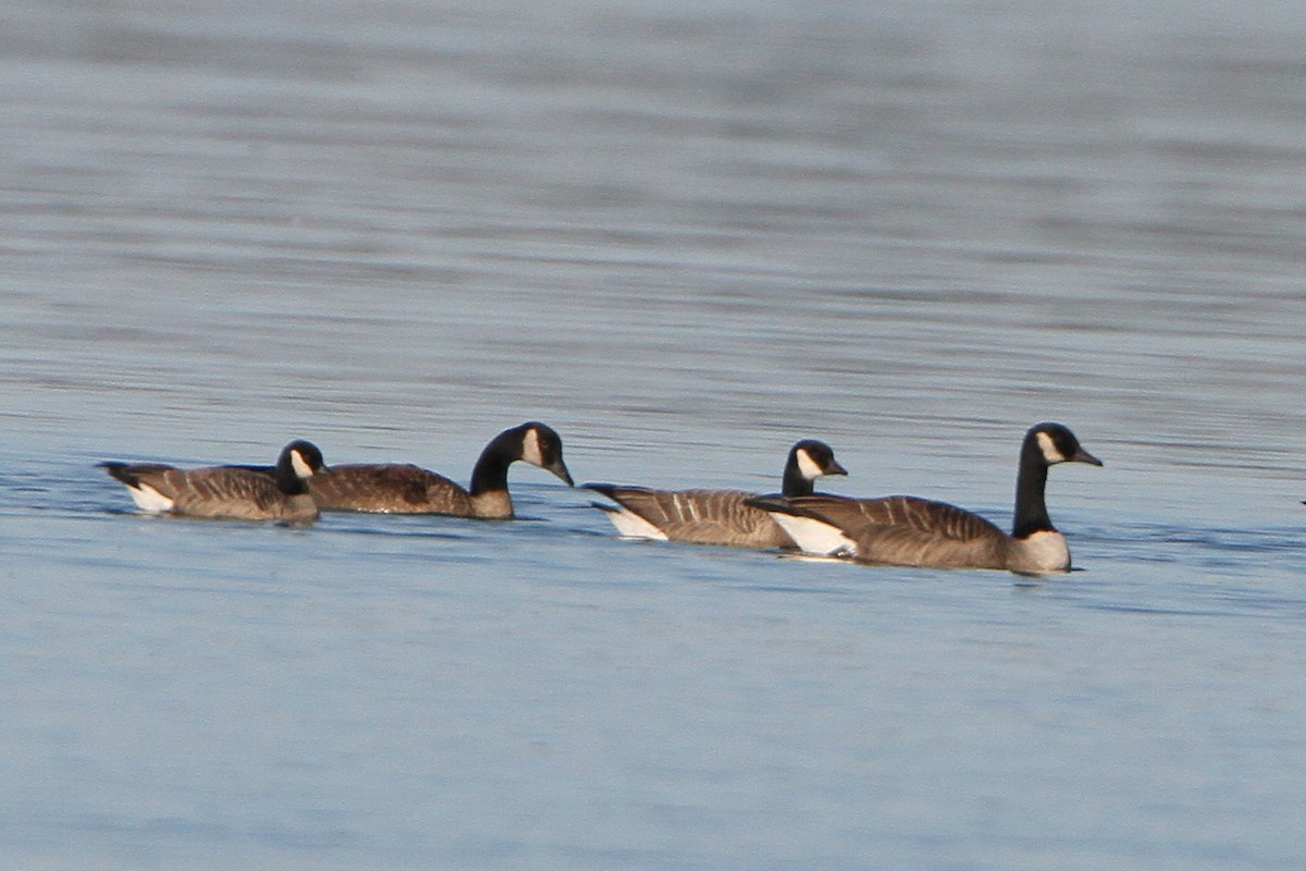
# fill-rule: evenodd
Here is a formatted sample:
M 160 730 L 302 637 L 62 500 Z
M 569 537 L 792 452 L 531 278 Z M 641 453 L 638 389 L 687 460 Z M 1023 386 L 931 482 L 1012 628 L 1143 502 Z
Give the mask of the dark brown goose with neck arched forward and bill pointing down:
M 572 483 L 563 462 L 563 441 L 543 423 L 504 430 L 486 445 L 464 490 L 421 466 L 357 464 L 332 466 L 315 475 L 310 490 L 323 511 L 366 511 L 394 515 L 453 515 L 483 520 L 512 518 L 508 466 L 524 460 Z

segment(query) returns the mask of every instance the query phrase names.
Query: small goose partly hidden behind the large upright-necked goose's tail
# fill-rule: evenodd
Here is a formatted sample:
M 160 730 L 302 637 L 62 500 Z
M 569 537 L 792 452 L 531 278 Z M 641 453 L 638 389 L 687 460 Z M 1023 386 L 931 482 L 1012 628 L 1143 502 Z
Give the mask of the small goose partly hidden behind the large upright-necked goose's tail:
M 816 478 L 846 474 L 829 445 L 807 439 L 789 451 L 784 495 L 810 495 Z M 607 512 L 622 535 L 737 547 L 794 547 L 794 541 L 767 512 L 744 504 L 756 494 L 743 490 L 652 490 L 594 483 L 585 487 L 618 504 L 613 508 L 594 503 L 594 507 Z

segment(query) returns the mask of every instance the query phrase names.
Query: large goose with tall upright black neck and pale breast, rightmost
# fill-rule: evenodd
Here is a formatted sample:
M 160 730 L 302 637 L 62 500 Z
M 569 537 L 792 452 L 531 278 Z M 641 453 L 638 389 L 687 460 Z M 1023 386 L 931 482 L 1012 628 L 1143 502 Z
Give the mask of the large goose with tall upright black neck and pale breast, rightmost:
M 771 512 L 811 554 L 888 565 L 1064 572 L 1070 571 L 1070 548 L 1047 517 L 1043 500 L 1047 467 L 1058 462 L 1102 465 L 1059 423 L 1032 427 L 1020 448 L 1011 535 L 956 505 L 916 496 L 761 498 L 748 504 Z

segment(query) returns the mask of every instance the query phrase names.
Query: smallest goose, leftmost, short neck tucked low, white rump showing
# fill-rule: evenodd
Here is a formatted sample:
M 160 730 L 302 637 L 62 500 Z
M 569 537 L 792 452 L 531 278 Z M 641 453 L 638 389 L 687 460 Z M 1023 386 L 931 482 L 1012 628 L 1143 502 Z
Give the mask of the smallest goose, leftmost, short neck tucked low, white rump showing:
M 291 522 L 317 518 L 306 482 L 323 469 L 323 454 L 308 441 L 287 444 L 268 474 L 239 466 L 99 465 L 127 484 L 137 507 L 150 513 Z

